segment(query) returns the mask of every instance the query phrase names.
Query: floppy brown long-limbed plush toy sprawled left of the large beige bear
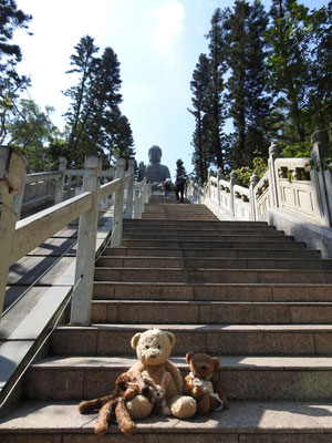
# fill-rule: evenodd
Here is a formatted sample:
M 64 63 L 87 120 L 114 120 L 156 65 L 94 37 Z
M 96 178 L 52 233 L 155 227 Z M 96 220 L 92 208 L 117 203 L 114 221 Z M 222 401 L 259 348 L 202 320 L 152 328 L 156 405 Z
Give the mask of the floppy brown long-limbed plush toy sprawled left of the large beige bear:
M 126 409 L 126 402 L 136 395 L 148 394 L 149 389 L 144 384 L 141 373 L 125 372 L 115 381 L 115 388 L 110 395 L 100 399 L 83 401 L 79 404 L 81 414 L 86 414 L 94 410 L 100 410 L 94 432 L 102 435 L 107 431 L 112 420 L 117 422 L 120 430 L 125 436 L 131 436 L 135 433 L 136 426 L 129 416 Z M 146 414 L 151 413 L 151 408 L 147 408 Z

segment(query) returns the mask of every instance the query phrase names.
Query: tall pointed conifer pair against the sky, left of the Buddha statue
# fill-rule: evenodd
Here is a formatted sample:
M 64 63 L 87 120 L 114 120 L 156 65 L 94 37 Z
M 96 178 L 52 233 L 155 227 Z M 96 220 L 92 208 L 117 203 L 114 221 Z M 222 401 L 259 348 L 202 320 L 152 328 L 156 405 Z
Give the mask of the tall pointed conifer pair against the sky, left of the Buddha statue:
M 134 140 L 129 122 L 121 113 L 122 102 L 120 62 L 112 48 L 101 58 L 89 35 L 82 38 L 71 56 L 80 74 L 79 84 L 65 92 L 73 99 L 66 113 L 70 127 L 68 147 L 75 165 L 82 165 L 86 153 L 101 154 L 106 163 L 118 156 L 134 154 Z

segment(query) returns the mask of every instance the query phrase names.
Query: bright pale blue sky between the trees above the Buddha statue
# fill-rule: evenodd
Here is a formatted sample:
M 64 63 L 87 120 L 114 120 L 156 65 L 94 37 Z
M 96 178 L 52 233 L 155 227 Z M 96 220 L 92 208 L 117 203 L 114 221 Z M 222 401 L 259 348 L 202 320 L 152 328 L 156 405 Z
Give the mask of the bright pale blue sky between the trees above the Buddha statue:
M 269 1 L 263 3 L 269 8 Z M 328 1 L 303 3 L 320 8 Z M 33 16 L 33 35 L 14 34 L 23 52 L 20 71 L 31 76 L 31 99 L 42 107 L 55 107 L 54 124 L 63 128 L 69 101 L 62 91 L 75 83 L 65 74 L 70 55 L 89 34 L 101 52 L 113 48 L 121 62 L 122 112 L 132 125 L 137 162 L 147 163 L 148 148 L 159 145 L 162 163 L 173 178 L 177 158 L 188 173 L 193 171 L 190 80 L 199 54 L 207 53 L 204 35 L 215 9 L 234 1 L 17 0 L 17 4 Z

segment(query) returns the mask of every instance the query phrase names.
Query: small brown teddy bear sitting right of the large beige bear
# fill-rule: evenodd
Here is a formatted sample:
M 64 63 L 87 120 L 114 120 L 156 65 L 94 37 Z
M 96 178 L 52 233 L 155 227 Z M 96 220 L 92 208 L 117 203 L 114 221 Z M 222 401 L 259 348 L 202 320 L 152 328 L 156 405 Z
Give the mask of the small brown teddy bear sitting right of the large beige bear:
M 219 368 L 218 359 L 206 353 L 187 352 L 186 361 L 190 373 L 185 378 L 184 394 L 191 395 L 197 402 L 197 412 L 206 415 L 209 410 L 228 409 L 228 401 L 220 381 L 214 374 Z

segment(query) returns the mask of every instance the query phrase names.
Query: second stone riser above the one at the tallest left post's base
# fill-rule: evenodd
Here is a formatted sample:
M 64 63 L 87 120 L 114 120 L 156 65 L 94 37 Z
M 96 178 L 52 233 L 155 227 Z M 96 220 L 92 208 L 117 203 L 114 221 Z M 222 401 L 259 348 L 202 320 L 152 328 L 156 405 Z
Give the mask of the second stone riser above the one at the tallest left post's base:
M 331 284 L 329 270 L 95 268 L 96 281 L 185 284 Z

